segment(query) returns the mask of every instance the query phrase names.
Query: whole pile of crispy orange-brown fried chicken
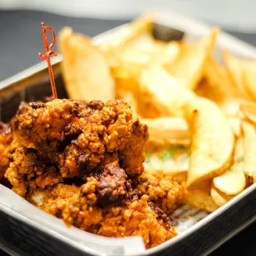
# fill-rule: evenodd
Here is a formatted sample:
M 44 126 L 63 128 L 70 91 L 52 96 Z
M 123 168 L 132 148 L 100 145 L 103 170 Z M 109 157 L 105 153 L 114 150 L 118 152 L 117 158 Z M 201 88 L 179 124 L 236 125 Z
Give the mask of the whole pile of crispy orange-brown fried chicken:
M 141 235 L 146 248 L 176 235 L 168 214 L 183 186 L 145 172 L 148 129 L 126 102 L 22 103 L 13 134 L 19 143 L 1 168 L 12 190 L 41 210 L 93 234 Z

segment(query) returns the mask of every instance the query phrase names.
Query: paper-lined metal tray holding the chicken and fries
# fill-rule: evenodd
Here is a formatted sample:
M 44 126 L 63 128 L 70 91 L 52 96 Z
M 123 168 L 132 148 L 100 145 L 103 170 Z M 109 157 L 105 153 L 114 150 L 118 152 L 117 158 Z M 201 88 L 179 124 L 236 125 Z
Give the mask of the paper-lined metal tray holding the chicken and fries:
M 158 12 L 157 15 L 153 33 L 162 40 L 195 40 L 209 30 L 208 26 L 177 14 Z M 121 36 L 126 29 L 127 25 L 124 25 L 107 31 L 94 38 L 95 43 Z M 220 48 L 223 47 L 236 55 L 256 58 L 253 46 L 225 33 L 220 34 L 217 45 L 215 55 L 220 61 Z M 55 59 L 53 67 L 58 95 L 63 98 L 67 94 L 59 69 L 60 62 L 61 56 Z M 8 121 L 21 101 L 43 100 L 50 93 L 45 63 L 2 81 L 0 120 Z M 144 251 L 139 248 L 140 243 L 134 243 L 133 238 L 96 239 L 96 235 L 67 228 L 61 220 L 31 206 L 0 184 L 0 248 L 12 255 L 206 255 L 256 220 L 255 201 L 256 184 L 177 237 Z M 50 225 L 50 221 L 56 225 Z

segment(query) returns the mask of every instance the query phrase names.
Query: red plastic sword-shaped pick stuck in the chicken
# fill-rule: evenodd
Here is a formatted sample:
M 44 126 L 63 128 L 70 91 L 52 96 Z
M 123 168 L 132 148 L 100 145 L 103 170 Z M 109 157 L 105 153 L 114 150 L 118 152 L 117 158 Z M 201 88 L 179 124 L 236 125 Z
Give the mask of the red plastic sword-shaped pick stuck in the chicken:
M 45 49 L 45 54 L 38 54 L 40 59 L 46 59 L 47 64 L 48 64 L 48 72 L 50 76 L 50 87 L 51 91 L 53 93 L 53 97 L 57 98 L 57 92 L 56 92 L 56 87 L 55 87 L 55 76 L 54 72 L 52 69 L 52 66 L 50 64 L 50 57 L 51 56 L 57 56 L 57 54 L 52 50 L 54 45 L 55 45 L 55 31 L 52 29 L 50 26 L 45 26 L 44 22 L 41 22 L 41 28 L 42 28 L 42 37 L 43 37 L 43 44 L 44 44 L 44 49 Z M 52 36 L 52 43 L 49 45 L 48 38 L 47 38 L 47 33 L 46 31 L 50 31 L 51 36 Z

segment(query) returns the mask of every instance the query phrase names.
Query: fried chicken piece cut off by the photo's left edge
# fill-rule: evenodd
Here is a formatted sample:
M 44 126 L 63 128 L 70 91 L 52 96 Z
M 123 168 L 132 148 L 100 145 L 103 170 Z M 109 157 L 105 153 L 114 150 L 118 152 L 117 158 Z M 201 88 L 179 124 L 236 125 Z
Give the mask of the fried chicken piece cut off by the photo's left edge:
M 18 144 L 17 134 L 12 132 L 11 126 L 0 122 L 0 179 L 4 177 Z

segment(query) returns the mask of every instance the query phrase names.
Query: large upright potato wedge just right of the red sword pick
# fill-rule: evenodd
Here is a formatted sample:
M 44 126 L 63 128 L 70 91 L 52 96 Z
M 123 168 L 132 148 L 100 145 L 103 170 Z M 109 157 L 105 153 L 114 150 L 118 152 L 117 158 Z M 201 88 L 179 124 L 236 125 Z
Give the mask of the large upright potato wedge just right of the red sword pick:
M 59 33 L 64 83 L 70 98 L 101 100 L 115 97 L 115 83 L 102 51 L 86 36 L 65 27 Z

